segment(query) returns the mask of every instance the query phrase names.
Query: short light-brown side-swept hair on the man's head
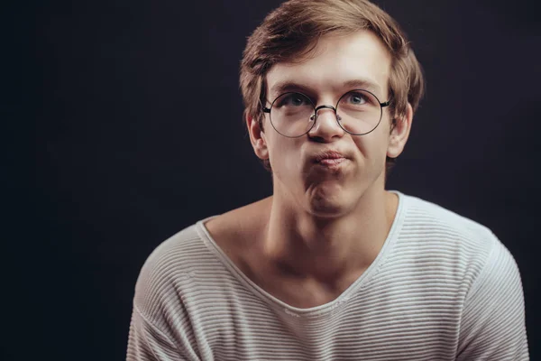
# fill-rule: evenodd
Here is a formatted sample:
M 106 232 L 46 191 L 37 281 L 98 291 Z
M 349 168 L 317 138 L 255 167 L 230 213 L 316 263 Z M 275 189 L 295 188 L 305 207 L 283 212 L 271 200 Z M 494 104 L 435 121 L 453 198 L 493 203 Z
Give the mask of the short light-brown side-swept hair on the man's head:
M 389 95 L 391 127 L 414 112 L 425 89 L 423 71 L 399 24 L 367 0 L 289 0 L 268 14 L 248 38 L 240 69 L 244 120 L 252 116 L 262 129 L 266 75 L 274 64 L 304 59 L 327 34 L 373 32 L 390 52 Z M 388 168 L 394 160 L 388 158 Z M 263 162 L 270 170 L 269 162 Z

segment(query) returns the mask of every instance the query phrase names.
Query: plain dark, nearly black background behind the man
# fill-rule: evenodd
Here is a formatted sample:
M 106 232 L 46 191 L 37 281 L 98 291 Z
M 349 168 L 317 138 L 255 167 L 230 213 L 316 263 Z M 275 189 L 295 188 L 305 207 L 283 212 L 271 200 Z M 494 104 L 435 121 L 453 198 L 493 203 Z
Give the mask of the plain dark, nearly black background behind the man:
M 237 79 L 246 37 L 279 3 L 8 5 L 0 109 L 14 170 L 5 173 L 2 359 L 124 359 L 134 284 L 152 249 L 271 194 Z M 427 80 L 389 188 L 500 237 L 520 268 L 530 354 L 541 359 L 536 5 L 378 4 L 408 32 Z

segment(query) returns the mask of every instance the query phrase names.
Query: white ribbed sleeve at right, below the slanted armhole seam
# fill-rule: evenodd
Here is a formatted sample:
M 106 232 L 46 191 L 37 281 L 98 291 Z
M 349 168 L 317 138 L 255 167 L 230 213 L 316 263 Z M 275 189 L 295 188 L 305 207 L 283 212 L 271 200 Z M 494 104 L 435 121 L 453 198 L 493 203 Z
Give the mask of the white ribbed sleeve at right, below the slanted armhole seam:
M 466 295 L 457 360 L 528 360 L 524 294 L 518 266 L 495 239 Z

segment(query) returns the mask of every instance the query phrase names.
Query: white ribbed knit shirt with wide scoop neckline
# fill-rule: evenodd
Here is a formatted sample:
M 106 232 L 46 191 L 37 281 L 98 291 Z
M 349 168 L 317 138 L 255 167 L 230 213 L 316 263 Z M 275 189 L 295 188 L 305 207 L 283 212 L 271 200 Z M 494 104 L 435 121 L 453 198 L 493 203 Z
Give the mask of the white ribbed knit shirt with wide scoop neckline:
M 265 292 L 204 222 L 159 245 L 135 286 L 127 360 L 527 360 L 518 266 L 490 229 L 400 192 L 379 255 L 334 301 Z

